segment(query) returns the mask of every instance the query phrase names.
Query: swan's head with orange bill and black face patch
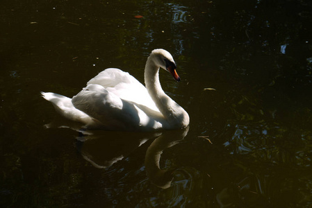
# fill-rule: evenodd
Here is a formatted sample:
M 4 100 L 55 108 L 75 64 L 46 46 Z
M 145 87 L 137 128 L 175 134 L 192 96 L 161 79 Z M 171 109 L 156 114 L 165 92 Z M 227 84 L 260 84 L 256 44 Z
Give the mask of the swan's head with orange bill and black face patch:
M 178 73 L 176 73 L 176 63 L 168 51 L 164 49 L 155 49 L 151 51 L 151 55 L 149 57 L 153 58 L 158 67 L 169 71 L 176 81 L 179 82 L 181 80 Z

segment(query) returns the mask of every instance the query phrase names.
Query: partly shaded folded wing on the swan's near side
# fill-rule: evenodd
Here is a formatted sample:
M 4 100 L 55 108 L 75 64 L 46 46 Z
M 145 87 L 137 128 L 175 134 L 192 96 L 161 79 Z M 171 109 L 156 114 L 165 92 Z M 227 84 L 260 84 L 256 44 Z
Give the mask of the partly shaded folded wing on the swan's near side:
M 74 107 L 104 123 L 108 130 L 133 130 L 140 126 L 136 107 L 101 85 L 88 85 L 72 98 Z

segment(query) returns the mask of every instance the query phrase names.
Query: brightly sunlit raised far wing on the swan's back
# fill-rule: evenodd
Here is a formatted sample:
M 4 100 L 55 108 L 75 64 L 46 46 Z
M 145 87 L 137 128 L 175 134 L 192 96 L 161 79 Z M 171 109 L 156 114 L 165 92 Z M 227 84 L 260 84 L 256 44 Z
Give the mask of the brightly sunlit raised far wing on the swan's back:
M 108 92 L 126 101 L 149 107 L 159 112 L 147 89 L 136 78 L 120 69 L 109 68 L 101 71 L 92 78 L 87 85 L 97 84 Z

